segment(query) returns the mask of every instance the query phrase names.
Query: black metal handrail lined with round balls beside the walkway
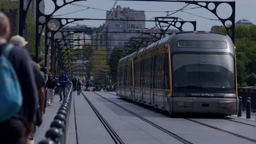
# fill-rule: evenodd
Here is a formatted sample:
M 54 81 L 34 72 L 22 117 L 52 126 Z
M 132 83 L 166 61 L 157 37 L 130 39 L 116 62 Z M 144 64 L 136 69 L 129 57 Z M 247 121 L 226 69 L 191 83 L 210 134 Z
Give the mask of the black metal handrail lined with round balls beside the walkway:
M 68 85 L 67 95 L 63 98 L 62 104 L 56 113 L 53 122 L 51 122 L 50 129 L 45 133 L 45 140 L 40 141 L 39 144 L 66 144 L 72 89 L 73 84 L 71 82 L 71 84 Z

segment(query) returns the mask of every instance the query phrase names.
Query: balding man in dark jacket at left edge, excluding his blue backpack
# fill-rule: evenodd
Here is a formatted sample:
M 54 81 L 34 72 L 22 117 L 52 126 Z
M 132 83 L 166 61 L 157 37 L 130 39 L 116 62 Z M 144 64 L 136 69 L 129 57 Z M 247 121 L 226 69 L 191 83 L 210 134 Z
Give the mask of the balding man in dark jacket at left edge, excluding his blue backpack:
M 33 131 L 38 106 L 38 93 L 31 68 L 30 55 L 25 49 L 8 44 L 9 34 L 9 19 L 0 12 L 0 53 L 2 54 L 6 47 L 10 46 L 7 58 L 18 77 L 23 99 L 21 109 L 11 118 L 0 122 L 1 143 L 20 144 L 25 143 L 26 136 Z

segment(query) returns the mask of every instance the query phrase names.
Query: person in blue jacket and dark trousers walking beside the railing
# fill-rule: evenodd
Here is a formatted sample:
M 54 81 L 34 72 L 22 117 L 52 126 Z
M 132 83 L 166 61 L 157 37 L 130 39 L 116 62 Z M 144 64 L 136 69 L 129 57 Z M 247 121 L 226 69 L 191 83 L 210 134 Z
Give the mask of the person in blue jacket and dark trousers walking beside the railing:
M 68 83 L 68 77 L 64 74 L 64 70 L 61 70 L 61 75 L 58 79 L 58 82 L 60 83 L 59 86 L 59 94 L 60 94 L 60 101 L 62 100 L 62 92 L 63 92 L 63 98 L 66 97 L 66 88 Z

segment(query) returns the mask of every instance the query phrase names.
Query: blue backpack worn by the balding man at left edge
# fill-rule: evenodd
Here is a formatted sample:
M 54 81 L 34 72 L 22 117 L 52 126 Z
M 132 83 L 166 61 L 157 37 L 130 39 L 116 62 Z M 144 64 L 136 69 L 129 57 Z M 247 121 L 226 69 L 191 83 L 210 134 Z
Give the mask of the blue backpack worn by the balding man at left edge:
M 13 45 L 7 45 L 0 55 L 0 122 L 14 116 L 22 106 L 20 83 L 8 59 L 11 49 Z

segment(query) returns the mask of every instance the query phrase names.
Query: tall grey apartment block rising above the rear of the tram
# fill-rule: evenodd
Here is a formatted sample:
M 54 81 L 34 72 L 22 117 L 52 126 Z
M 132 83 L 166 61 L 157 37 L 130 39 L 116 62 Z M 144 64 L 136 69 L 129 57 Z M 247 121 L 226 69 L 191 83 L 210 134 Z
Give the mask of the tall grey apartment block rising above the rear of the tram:
M 110 56 L 111 50 L 113 50 L 114 47 L 124 46 L 130 38 L 139 37 L 141 32 L 144 32 L 146 29 L 146 22 L 144 21 L 146 20 L 146 16 L 142 10 L 121 8 L 121 6 L 118 5 L 112 11 L 107 11 L 106 19 L 106 22 L 101 27 L 102 33 L 96 34 L 96 37 L 100 39 L 98 45 L 107 48 L 108 56 Z

